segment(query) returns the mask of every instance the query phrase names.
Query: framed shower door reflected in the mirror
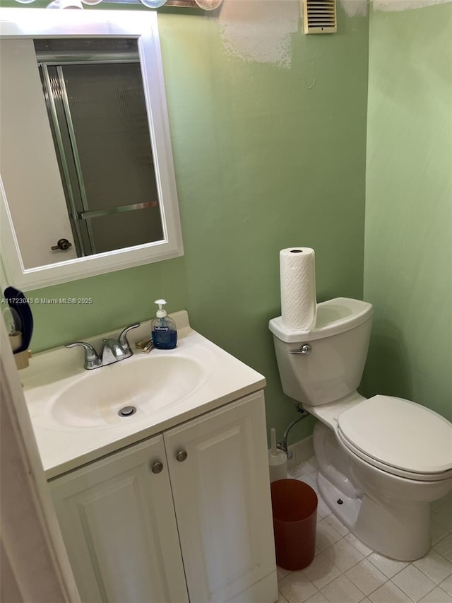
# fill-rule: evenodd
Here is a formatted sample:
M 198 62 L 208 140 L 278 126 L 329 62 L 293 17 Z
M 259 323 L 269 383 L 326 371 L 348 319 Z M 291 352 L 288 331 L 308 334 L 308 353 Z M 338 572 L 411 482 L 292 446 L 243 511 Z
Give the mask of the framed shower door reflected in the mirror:
M 77 256 L 162 240 L 137 41 L 34 44 Z

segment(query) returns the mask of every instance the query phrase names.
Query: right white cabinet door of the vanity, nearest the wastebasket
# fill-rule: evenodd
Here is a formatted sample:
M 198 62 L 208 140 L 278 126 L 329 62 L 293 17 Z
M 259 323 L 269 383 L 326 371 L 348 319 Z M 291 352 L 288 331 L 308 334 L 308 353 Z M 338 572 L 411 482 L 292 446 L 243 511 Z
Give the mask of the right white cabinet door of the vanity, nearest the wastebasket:
M 190 601 L 274 602 L 263 393 L 189 421 L 164 437 Z M 265 595 L 253 595 L 249 588 L 266 577 Z

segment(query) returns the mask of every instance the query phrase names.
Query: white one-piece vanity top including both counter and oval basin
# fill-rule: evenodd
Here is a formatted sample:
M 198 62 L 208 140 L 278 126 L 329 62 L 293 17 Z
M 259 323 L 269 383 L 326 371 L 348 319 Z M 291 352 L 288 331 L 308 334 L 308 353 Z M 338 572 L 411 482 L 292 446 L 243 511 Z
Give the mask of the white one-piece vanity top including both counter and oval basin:
M 56 348 L 36 354 L 20 372 L 48 479 L 264 387 L 262 375 L 193 331 L 184 310 L 172 318 L 174 350 L 137 351 L 85 370 L 81 348 Z M 129 341 L 149 332 L 150 322 L 143 323 Z M 87 341 L 98 350 L 111 336 L 117 332 Z M 136 412 L 119 416 L 124 406 Z

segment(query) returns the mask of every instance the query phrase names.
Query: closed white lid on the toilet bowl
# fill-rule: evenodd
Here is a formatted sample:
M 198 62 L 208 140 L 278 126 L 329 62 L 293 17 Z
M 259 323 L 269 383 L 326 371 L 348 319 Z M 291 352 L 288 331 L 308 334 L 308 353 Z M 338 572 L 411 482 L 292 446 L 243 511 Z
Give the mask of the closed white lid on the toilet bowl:
M 392 396 L 374 396 L 344 411 L 338 429 L 364 455 L 413 474 L 452 469 L 452 423 Z

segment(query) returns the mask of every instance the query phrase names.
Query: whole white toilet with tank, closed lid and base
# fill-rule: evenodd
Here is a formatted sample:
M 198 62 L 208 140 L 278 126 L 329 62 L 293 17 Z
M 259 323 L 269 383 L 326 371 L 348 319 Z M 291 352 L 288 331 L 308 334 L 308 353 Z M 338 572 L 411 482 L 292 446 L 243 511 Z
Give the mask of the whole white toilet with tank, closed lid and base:
M 357 393 L 373 309 L 336 298 L 316 327 L 270 320 L 284 392 L 319 419 L 318 486 L 333 513 L 365 544 L 403 561 L 430 548 L 429 503 L 452 489 L 452 423 L 420 404 Z

